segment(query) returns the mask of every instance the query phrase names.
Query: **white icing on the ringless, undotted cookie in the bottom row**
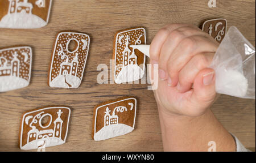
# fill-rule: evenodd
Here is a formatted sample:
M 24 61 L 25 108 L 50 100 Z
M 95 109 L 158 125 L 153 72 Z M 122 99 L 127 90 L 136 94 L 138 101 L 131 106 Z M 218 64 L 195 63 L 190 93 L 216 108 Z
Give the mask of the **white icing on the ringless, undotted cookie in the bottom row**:
M 115 111 L 122 113 L 123 111 L 127 111 L 127 108 L 125 106 L 117 106 L 114 108 L 112 115 L 110 115 L 109 108 L 106 108 L 105 116 L 104 116 L 104 127 L 102 127 L 98 132 L 96 132 L 96 125 L 97 125 L 97 112 L 98 109 L 104 108 L 105 106 L 116 104 L 118 102 L 131 100 L 133 99 L 135 101 L 135 105 L 133 103 L 129 102 L 128 105 L 130 105 L 130 110 L 134 110 L 134 121 L 133 121 L 133 127 L 125 125 L 123 123 L 119 123 L 118 119 L 119 117 L 115 115 Z M 135 98 L 126 98 L 124 100 L 119 100 L 112 102 L 110 104 L 102 105 L 96 109 L 96 115 L 95 115 L 95 121 L 94 121 L 94 140 L 100 141 L 100 140 L 106 140 L 110 138 L 114 138 L 116 136 L 121 136 L 128 134 L 129 132 L 134 130 L 135 125 L 135 118 L 136 118 L 136 106 L 137 106 L 137 100 Z

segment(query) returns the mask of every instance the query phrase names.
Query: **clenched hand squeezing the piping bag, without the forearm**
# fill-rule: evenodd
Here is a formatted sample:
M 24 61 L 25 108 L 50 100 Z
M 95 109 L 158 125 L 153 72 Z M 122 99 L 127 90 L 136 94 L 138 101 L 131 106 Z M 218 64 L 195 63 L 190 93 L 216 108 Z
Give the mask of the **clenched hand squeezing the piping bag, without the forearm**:
M 154 94 L 160 111 L 197 117 L 209 109 L 216 91 L 214 70 L 207 67 L 218 45 L 193 25 L 169 24 L 160 29 L 150 46 L 150 63 L 159 64 Z

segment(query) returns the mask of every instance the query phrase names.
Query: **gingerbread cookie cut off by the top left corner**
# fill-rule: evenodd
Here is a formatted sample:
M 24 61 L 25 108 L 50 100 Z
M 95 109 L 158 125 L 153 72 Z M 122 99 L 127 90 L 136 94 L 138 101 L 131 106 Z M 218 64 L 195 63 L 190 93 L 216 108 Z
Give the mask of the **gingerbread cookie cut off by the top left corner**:
M 41 28 L 47 25 L 52 0 L 1 0 L 0 28 Z

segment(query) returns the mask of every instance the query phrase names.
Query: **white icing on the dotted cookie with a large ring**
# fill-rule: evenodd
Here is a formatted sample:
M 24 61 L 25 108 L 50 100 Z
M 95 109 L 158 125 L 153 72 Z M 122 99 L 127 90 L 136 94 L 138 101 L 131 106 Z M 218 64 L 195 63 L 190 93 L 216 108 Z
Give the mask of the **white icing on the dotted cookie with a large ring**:
M 84 66 L 83 66 L 83 69 L 82 69 L 82 73 L 81 73 L 81 78 L 77 77 L 77 67 L 79 66 L 79 56 L 81 56 L 82 54 L 79 54 L 79 53 L 76 53 L 75 57 L 73 58 L 72 62 L 69 62 L 69 57 L 67 54 L 64 53 L 64 49 L 63 49 L 63 45 L 61 44 L 58 44 L 57 45 L 57 42 L 60 38 L 61 35 L 63 34 L 68 34 L 69 36 L 74 36 L 75 34 L 78 34 L 78 35 L 81 35 L 83 37 L 87 37 L 88 40 L 84 40 L 84 39 L 81 39 L 81 42 L 78 41 L 75 36 L 71 39 L 69 39 L 69 41 L 67 42 L 66 46 L 64 46 L 68 51 L 68 44 L 71 40 L 75 40 L 77 41 L 77 48 L 76 50 L 74 50 L 74 52 L 69 52 L 69 53 L 76 53 L 77 50 L 79 49 L 79 45 L 80 43 L 83 43 L 84 46 L 82 47 L 82 50 L 85 50 L 86 47 L 88 47 L 87 49 L 87 52 L 86 52 L 86 57 L 85 57 L 85 62 L 84 62 Z M 86 42 L 85 42 L 86 41 Z M 49 73 L 49 76 L 51 76 L 51 78 L 49 78 L 49 86 L 50 87 L 57 87 L 57 88 L 78 88 L 79 85 L 81 84 L 81 80 L 82 80 L 82 76 L 84 74 L 84 69 L 85 69 L 85 64 L 86 64 L 86 59 L 87 59 L 87 56 L 88 56 L 88 52 L 89 52 L 89 44 L 90 44 L 90 37 L 84 33 L 74 33 L 74 32 L 61 32 L 59 33 L 59 35 L 57 36 L 57 39 L 56 39 L 56 43 L 55 43 L 55 48 L 54 48 L 54 51 L 53 53 L 56 52 L 56 49 L 58 48 L 58 46 L 60 47 L 60 50 L 59 52 L 57 52 L 57 55 L 60 56 L 61 55 L 61 59 L 65 59 L 65 61 L 61 62 L 60 64 L 60 67 L 59 67 L 59 75 L 56 76 L 55 78 L 52 78 L 52 71 L 53 71 L 53 62 L 51 63 L 51 70 L 50 70 L 50 73 Z M 53 55 L 52 56 L 52 61 L 53 61 L 53 58 L 55 56 Z M 75 65 L 74 65 L 75 64 Z

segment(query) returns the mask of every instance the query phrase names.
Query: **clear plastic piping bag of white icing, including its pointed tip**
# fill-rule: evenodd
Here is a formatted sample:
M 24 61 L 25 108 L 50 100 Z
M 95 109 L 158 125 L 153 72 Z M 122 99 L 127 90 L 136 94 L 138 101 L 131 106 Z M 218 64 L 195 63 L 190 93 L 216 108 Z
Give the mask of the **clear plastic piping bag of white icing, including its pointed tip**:
M 150 45 L 131 45 L 150 58 Z M 230 27 L 209 68 L 216 74 L 216 92 L 255 99 L 255 48 L 236 27 Z

